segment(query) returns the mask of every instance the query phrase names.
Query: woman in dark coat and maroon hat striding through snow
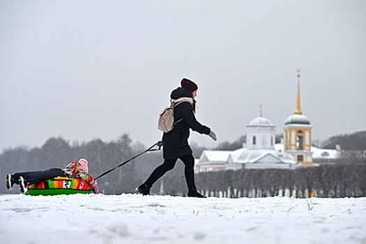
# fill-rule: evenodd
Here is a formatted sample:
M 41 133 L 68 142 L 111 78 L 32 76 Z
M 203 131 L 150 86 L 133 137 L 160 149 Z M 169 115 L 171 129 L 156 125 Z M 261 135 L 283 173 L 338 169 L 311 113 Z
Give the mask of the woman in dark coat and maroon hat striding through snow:
M 179 121 L 174 125 L 174 128 L 162 135 L 162 152 L 164 162 L 158 166 L 148 176 L 147 180 L 136 188 L 137 193 L 142 195 L 149 195 L 150 188 L 155 181 L 158 181 L 167 171 L 174 168 L 176 160 L 181 159 L 185 165 L 184 174 L 185 181 L 188 186 L 188 197 L 205 197 L 196 190 L 195 185 L 195 158 L 192 155 L 192 149 L 188 145 L 188 137 L 190 136 L 190 129 L 201 134 L 210 136 L 216 140 L 216 135 L 213 130 L 205 125 L 201 125 L 195 118 L 195 107 L 198 86 L 195 82 L 183 78 L 181 87 L 178 87 L 171 92 L 171 100 L 178 98 L 188 98 L 189 102 L 181 102 L 174 107 L 174 121 Z

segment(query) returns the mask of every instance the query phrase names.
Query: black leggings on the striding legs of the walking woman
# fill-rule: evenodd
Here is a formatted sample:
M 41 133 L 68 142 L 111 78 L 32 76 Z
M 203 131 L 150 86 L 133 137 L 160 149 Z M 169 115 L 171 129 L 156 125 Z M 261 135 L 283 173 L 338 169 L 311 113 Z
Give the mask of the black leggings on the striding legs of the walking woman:
M 185 168 L 184 168 L 184 176 L 185 181 L 187 182 L 188 190 L 195 189 L 195 158 L 193 158 L 192 154 L 185 155 L 183 157 L 179 157 L 180 160 L 183 161 Z M 174 168 L 176 165 L 176 160 L 171 159 L 165 159 L 162 165 L 159 165 L 154 171 L 151 173 L 150 176 L 148 176 L 147 180 L 145 181 L 145 184 L 151 187 L 155 181 L 158 181 L 158 179 L 163 176 L 167 171 Z

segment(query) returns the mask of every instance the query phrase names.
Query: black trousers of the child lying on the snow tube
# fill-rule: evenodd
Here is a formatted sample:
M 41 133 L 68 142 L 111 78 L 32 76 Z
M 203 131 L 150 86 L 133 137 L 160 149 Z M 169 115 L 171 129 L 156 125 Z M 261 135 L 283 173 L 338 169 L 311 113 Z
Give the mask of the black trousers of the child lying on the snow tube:
M 47 169 L 45 171 L 18 172 L 13 174 L 15 183 L 18 183 L 20 176 L 23 176 L 28 185 L 33 185 L 40 181 L 46 181 L 56 176 L 65 176 L 65 174 L 63 174 L 63 170 L 59 168 Z

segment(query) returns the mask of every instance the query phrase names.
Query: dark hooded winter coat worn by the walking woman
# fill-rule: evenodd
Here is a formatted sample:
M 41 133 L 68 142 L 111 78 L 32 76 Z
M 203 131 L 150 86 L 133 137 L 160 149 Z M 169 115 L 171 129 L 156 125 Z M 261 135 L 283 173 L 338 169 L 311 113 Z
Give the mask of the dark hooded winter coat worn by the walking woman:
M 190 91 L 178 87 L 171 92 L 171 99 L 192 98 Z M 190 128 L 201 134 L 208 135 L 211 129 L 205 125 L 201 125 L 193 112 L 190 102 L 181 102 L 174 108 L 174 121 L 183 118 L 183 121 L 178 122 L 173 130 L 162 135 L 162 152 L 163 158 L 173 159 L 192 153 L 192 149 L 188 145 L 188 137 L 190 137 Z

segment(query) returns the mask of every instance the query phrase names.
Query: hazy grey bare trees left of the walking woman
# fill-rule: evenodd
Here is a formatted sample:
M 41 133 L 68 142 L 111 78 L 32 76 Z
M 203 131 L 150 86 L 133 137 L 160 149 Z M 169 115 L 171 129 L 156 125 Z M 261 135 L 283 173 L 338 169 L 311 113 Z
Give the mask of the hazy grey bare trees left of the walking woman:
M 112 142 L 94 139 L 82 144 L 77 142 L 70 144 L 61 137 L 52 137 L 40 148 L 29 149 L 19 146 L 4 150 L 0 155 L 0 176 L 5 179 L 6 174 L 15 172 L 38 171 L 55 167 L 63 169 L 69 162 L 86 158 L 89 161 L 89 174 L 96 178 L 145 149 L 142 144 L 132 144 L 132 139 L 127 134 Z M 98 179 L 100 191 L 105 194 L 134 192 L 143 178 L 161 162 L 161 153 L 146 153 Z M 8 192 L 5 184 L 0 185 L 0 192 Z

